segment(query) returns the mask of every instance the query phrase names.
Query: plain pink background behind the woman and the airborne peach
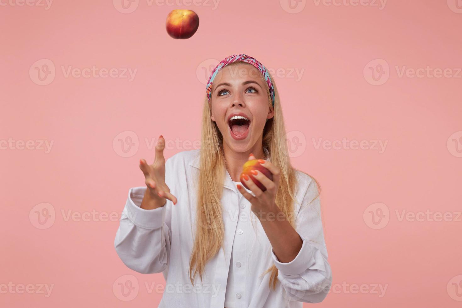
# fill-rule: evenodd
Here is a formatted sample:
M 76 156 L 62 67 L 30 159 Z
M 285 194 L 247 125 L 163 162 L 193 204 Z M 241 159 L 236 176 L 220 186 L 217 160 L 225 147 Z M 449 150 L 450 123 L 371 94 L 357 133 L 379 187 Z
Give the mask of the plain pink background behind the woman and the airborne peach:
M 166 157 L 194 148 L 210 66 L 238 53 L 280 69 L 274 77 L 288 139 L 293 149 L 300 146 L 292 163 L 322 187 L 333 289 L 316 307 L 460 307 L 462 9 L 456 0 L 394 0 L 383 9 L 346 5 L 354 0 L 340 6 L 302 0 L 292 9 L 286 0 L 221 0 L 215 9 L 205 0 L 192 6 L 140 0 L 131 13 L 116 9 L 120 0 L 55 0 L 48 10 L 8 1 L 0 7 L 0 142 L 15 141 L 0 144 L 0 285 L 14 288 L 0 289 L 1 307 L 157 307 L 162 292 L 146 284 L 162 285 L 164 278 L 119 260 L 118 217 L 128 189 L 144 185 L 139 159 L 154 157 L 146 139 L 173 140 Z M 200 17 L 188 40 L 165 32 L 176 8 Z M 34 76 L 42 59 L 55 66 L 48 85 Z M 373 85 L 369 67 L 378 73 L 384 63 L 381 85 Z M 66 78 L 62 66 L 137 72 L 133 81 Z M 459 78 L 400 77 L 403 66 L 449 68 Z M 296 70 L 304 70 L 299 80 Z M 127 154 L 118 141 L 126 137 L 134 144 Z M 364 140 L 367 149 L 316 146 L 343 138 Z M 20 150 L 18 140 L 34 145 Z M 51 151 L 36 140 L 54 142 Z M 382 153 L 374 140 L 387 142 Z M 48 225 L 37 220 L 37 211 L 46 214 L 43 206 Z M 452 218 L 400 219 L 403 210 Z M 67 219 L 92 212 L 90 221 Z M 139 283 L 133 299 L 118 291 L 127 278 Z M 32 294 L 16 291 L 28 284 Z M 48 297 L 40 284 L 54 285 Z

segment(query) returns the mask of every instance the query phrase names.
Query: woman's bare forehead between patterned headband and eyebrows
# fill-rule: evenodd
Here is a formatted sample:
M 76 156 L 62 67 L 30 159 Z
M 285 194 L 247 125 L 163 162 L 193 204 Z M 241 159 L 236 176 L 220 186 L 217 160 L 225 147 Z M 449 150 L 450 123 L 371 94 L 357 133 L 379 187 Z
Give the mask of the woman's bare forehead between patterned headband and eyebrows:
M 220 82 L 241 82 L 246 80 L 255 80 L 260 84 L 261 73 L 253 65 L 249 63 L 239 63 L 237 65 L 228 65 L 223 67 L 213 79 L 213 84 Z

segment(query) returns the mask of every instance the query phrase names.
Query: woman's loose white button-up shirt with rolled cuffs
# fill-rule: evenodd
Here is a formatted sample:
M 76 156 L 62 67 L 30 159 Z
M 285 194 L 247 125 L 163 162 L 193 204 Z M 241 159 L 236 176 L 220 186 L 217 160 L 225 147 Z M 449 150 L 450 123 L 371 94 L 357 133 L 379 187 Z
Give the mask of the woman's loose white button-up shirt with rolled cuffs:
M 310 203 L 316 184 L 298 170 L 295 229 L 303 245 L 295 259 L 279 262 L 249 201 L 226 172 L 221 198 L 225 252 L 220 249 L 209 260 L 202 282 L 198 275 L 191 284 L 188 267 L 196 229 L 199 151 L 179 152 L 165 163 L 165 183 L 176 196 L 176 205 L 167 200 L 163 207 L 142 209 L 146 187 L 130 188 L 116 233 L 114 245 L 126 266 L 140 273 L 163 273 L 166 285 L 158 307 L 221 308 L 225 297 L 232 308 L 302 308 L 302 302 L 321 302 L 330 290 L 332 272 L 320 203 L 319 198 Z M 279 270 L 275 291 L 269 288 L 271 272 L 262 276 L 273 264 Z

